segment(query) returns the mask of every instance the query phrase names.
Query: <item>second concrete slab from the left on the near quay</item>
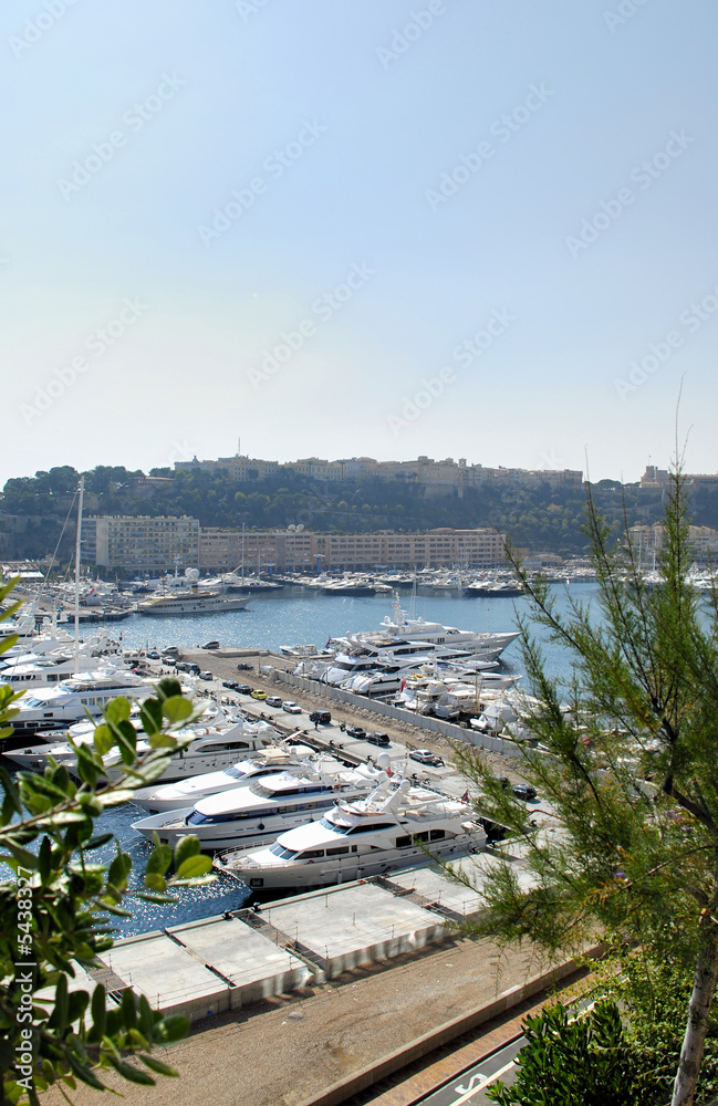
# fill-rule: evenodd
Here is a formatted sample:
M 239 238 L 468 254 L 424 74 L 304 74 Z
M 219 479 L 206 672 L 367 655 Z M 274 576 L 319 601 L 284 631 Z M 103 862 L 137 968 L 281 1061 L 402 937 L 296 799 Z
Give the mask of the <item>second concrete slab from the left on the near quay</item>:
M 312 977 L 308 966 L 238 918 L 208 918 L 167 930 L 207 968 L 229 984 L 235 1010 L 303 987 Z

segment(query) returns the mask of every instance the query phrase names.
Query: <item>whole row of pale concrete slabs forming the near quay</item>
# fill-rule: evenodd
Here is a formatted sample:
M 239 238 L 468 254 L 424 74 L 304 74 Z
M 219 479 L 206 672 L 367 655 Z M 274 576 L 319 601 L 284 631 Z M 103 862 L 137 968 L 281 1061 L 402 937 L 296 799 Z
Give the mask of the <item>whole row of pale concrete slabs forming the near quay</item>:
M 115 993 L 211 1018 L 446 940 L 481 911 L 483 872 L 499 862 L 487 852 L 452 863 L 476 887 L 431 864 L 126 938 L 103 968 Z

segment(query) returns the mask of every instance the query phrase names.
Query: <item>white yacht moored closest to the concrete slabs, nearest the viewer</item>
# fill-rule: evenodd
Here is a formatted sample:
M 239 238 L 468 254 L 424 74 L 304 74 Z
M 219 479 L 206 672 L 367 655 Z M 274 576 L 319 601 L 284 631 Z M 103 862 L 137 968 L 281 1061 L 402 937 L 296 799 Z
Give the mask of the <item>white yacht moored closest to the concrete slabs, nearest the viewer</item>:
M 481 848 L 470 806 L 408 780 L 383 782 L 357 802 L 339 800 L 324 817 L 260 849 L 231 849 L 214 864 L 252 888 L 309 890 L 385 875 Z

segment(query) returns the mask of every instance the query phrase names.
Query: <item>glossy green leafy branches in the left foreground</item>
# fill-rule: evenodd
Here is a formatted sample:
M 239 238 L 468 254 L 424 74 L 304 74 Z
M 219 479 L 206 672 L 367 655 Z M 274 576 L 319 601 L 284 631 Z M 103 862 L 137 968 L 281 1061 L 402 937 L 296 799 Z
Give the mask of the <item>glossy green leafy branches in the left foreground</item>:
M 8 591 L 0 588 L 0 599 Z M 12 644 L 9 639 L 0 649 Z M 0 688 L 0 724 L 12 718 L 18 698 L 9 687 Z M 112 947 L 112 916 L 131 917 L 122 906 L 127 894 L 174 901 L 168 887 L 211 879 L 209 858 L 199 855 L 196 837 L 186 837 L 174 857 L 166 845 L 154 849 L 143 891 L 128 890 L 132 860 L 119 844 L 112 863 L 93 860 L 94 851 L 113 839 L 113 834 L 94 833 L 94 820 L 163 774 L 171 754 L 190 740 L 180 731 L 198 712 L 179 684 L 162 680 L 141 707 L 149 747 L 141 752 L 129 714 L 126 699 L 113 700 L 93 745 L 76 745 L 79 783 L 63 766 L 46 768 L 43 775 L 19 772 L 17 781 L 0 768 L 0 862 L 14 874 L 0 883 L 2 1106 L 35 1106 L 38 1093 L 53 1083 L 65 1096 L 64 1088 L 76 1081 L 103 1089 L 103 1068 L 138 1084 L 154 1083 L 150 1073 L 176 1074 L 149 1053 L 183 1037 L 187 1019 L 163 1016 L 129 989 L 114 1005 L 102 985 L 92 994 L 69 988 L 73 966 L 90 968 Z M 7 726 L 0 729 L 0 738 L 10 733 Z M 122 774 L 106 783 L 102 758 L 113 748 L 119 751 Z M 176 875 L 168 878 L 173 864 Z

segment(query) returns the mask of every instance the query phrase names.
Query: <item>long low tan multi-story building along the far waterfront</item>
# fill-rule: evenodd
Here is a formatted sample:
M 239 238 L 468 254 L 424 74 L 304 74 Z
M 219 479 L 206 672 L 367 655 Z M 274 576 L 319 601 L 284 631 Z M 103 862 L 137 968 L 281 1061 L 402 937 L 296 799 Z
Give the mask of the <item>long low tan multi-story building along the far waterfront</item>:
M 423 533 L 318 534 L 303 530 L 202 528 L 199 566 L 214 572 L 244 566 L 246 572 L 277 570 L 486 567 L 504 561 L 504 535 L 498 530 L 438 529 Z

